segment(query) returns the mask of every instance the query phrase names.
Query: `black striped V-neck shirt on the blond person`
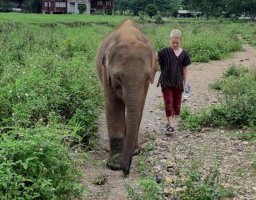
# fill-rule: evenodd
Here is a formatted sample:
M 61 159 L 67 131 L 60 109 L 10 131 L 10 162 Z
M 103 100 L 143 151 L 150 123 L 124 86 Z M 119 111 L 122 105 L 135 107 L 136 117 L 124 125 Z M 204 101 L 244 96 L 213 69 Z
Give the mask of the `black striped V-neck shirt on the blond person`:
M 158 51 L 158 62 L 161 68 L 158 86 L 170 86 L 183 91 L 183 67 L 191 64 L 188 52 L 182 50 L 177 57 L 171 47 L 166 47 Z

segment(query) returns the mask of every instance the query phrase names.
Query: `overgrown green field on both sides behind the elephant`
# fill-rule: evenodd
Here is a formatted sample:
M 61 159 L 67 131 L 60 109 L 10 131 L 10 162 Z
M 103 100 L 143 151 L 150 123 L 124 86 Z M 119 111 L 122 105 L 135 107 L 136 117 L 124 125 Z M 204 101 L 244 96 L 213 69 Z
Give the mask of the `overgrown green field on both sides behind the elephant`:
M 70 147 L 78 151 L 94 146 L 102 110 L 94 58 L 102 39 L 124 19 L 0 14 L 1 199 L 66 199 L 86 193 L 78 182 L 79 156 Z M 156 50 L 169 45 L 170 30 L 182 30 L 183 48 L 190 51 L 193 62 L 242 50 L 239 35 L 256 45 L 253 23 L 173 20 L 140 26 Z

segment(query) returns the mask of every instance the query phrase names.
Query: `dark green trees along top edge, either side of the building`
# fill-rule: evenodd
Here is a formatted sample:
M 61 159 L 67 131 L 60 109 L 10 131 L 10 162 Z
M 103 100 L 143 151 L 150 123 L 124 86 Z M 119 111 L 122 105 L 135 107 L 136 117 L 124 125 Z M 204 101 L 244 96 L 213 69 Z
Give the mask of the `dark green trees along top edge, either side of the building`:
M 0 10 L 10 6 L 10 0 L 0 0 Z M 41 13 L 42 0 L 16 0 L 26 12 Z M 115 14 L 155 14 L 177 16 L 178 10 L 202 12 L 206 18 L 237 18 L 242 14 L 256 17 L 256 0 L 111 0 Z

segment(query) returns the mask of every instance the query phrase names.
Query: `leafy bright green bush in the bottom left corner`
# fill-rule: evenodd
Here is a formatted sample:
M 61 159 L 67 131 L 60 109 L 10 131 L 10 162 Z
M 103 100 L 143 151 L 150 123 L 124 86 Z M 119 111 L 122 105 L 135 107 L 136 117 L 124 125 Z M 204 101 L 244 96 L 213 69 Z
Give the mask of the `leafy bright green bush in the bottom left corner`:
M 0 134 L 0 198 L 68 199 L 85 191 L 64 137 L 40 126 Z

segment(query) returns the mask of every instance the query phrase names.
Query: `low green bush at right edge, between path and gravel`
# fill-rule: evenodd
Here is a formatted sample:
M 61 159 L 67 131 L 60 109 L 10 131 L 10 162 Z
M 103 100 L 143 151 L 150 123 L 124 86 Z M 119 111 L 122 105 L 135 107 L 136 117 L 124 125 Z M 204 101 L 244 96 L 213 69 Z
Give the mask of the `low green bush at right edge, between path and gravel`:
M 229 126 L 234 128 L 256 126 L 256 70 L 235 66 L 226 70 L 220 83 L 222 103 L 191 114 L 186 107 L 181 113 L 181 127 L 194 131 L 202 126 Z

